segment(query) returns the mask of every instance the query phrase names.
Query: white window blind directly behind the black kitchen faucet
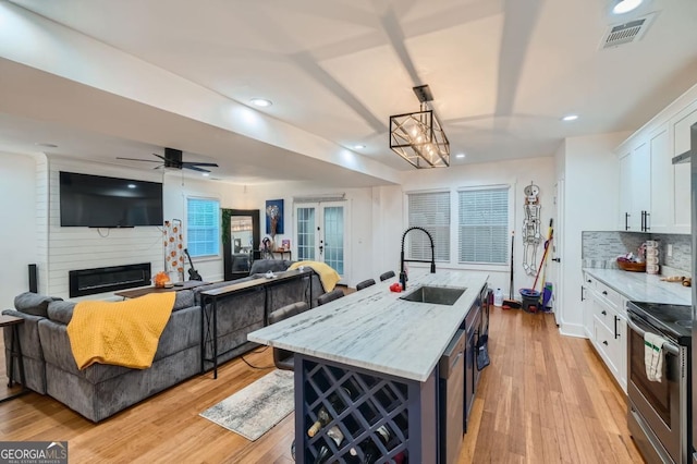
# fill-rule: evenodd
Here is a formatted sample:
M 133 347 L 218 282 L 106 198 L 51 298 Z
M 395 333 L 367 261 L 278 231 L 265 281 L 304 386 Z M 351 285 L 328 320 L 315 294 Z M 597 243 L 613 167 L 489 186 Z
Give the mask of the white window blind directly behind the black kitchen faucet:
M 433 237 L 437 261 L 450 261 L 450 192 L 407 194 L 409 227 L 426 229 Z M 431 245 L 424 232 L 406 236 L 408 259 L 431 259 Z

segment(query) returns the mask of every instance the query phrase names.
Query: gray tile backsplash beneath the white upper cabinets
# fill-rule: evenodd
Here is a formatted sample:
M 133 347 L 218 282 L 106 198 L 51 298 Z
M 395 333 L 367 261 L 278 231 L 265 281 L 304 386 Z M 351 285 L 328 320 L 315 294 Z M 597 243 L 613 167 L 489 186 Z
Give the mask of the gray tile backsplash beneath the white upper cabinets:
M 684 234 L 647 234 L 637 232 L 583 232 L 583 266 L 588 268 L 616 268 L 616 257 L 626 253 L 637 253 L 647 240 L 661 243 L 659 259 L 663 266 L 684 272 L 692 272 L 692 237 Z M 673 254 L 668 256 L 668 245 Z

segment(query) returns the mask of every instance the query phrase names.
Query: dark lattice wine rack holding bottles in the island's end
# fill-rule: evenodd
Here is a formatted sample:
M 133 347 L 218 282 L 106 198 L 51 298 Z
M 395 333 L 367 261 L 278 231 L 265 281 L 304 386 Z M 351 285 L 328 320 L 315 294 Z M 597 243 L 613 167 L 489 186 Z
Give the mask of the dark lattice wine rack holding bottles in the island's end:
M 296 440 L 302 435 L 304 457 L 299 462 L 313 464 L 323 452 L 330 454 L 328 463 L 362 463 L 370 448 L 374 455 L 379 456 L 371 462 L 407 462 L 409 394 L 415 391 L 414 386 L 409 388 L 409 380 L 386 378 L 325 361 L 304 358 L 301 364 L 303 428 L 296 430 Z M 330 422 L 309 437 L 307 430 L 318 420 L 322 407 L 329 413 Z M 340 443 L 329 432 L 334 427 L 343 436 Z

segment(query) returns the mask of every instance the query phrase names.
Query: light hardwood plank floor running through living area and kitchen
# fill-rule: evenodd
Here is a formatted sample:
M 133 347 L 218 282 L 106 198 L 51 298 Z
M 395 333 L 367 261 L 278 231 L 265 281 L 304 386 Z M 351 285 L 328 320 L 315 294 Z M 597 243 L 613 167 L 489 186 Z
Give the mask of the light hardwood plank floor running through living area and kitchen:
M 552 315 L 496 307 L 489 339 L 460 463 L 643 462 L 625 396 L 586 340 L 561 337 Z M 270 366 L 258 351 L 245 358 Z M 293 414 L 256 442 L 198 416 L 268 371 L 237 358 L 97 425 L 29 393 L 0 404 L 0 440 L 68 440 L 71 463 L 292 463 Z

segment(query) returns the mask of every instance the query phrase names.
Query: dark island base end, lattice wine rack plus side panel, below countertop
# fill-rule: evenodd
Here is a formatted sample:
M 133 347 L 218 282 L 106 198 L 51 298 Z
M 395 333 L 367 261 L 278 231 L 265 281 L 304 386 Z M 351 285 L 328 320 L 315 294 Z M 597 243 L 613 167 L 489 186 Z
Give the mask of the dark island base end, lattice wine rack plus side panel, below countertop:
M 294 370 L 296 462 L 438 462 L 438 369 L 419 382 L 296 353 Z

